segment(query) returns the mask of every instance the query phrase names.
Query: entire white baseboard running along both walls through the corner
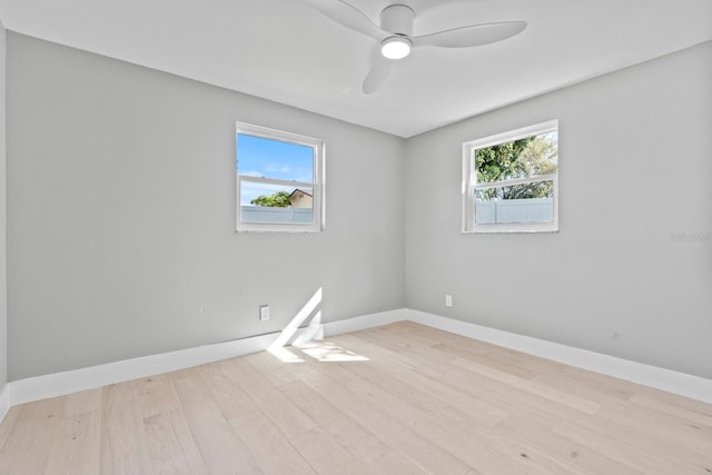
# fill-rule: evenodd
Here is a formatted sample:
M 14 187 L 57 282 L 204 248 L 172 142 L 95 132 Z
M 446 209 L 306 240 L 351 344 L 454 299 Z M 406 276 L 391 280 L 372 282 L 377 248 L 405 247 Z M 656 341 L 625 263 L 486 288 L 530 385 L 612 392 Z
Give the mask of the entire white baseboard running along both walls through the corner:
M 322 331 L 325 336 L 334 336 L 402 320 L 411 320 L 705 403 L 712 403 L 712 380 L 710 379 L 406 308 L 310 325 L 295 333 L 290 340 L 299 338 L 304 333 Z M 9 407 L 17 404 L 62 396 L 78 390 L 261 352 L 273 345 L 279 336 L 280 334 L 278 333 L 261 335 L 10 382 L 0 390 L 0 420 L 2 420 Z

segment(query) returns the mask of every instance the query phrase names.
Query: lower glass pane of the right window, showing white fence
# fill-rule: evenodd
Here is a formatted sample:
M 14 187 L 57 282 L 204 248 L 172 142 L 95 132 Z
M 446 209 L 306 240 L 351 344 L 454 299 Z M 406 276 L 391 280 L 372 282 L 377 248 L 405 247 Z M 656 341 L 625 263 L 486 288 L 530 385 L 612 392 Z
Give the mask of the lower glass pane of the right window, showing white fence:
M 552 222 L 553 186 L 546 180 L 475 190 L 475 222 Z

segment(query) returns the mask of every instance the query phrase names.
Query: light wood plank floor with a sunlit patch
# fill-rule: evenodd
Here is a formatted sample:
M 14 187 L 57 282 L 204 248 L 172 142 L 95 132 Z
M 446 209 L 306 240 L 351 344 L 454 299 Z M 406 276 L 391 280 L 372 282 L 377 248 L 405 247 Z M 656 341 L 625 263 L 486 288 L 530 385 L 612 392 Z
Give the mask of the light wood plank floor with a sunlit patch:
M 712 405 L 416 324 L 278 356 L 12 407 L 0 474 L 712 473 Z

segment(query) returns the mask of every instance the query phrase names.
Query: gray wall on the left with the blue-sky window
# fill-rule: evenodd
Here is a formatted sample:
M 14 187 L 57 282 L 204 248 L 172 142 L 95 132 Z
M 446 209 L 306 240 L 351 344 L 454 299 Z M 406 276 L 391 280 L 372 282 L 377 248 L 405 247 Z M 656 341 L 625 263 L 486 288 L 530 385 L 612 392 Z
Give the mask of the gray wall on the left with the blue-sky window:
M 12 32 L 7 79 L 11 380 L 405 306 L 403 139 Z M 236 120 L 326 140 L 325 232 L 235 232 Z

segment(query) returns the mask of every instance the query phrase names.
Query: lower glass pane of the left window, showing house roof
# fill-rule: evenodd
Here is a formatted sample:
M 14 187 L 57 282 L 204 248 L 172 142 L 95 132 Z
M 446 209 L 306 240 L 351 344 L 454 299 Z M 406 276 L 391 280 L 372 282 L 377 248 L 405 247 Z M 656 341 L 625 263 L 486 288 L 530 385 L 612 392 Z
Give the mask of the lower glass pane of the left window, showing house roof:
M 240 181 L 241 222 L 312 224 L 314 189 Z

